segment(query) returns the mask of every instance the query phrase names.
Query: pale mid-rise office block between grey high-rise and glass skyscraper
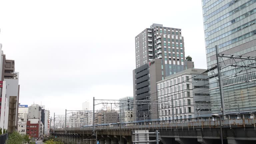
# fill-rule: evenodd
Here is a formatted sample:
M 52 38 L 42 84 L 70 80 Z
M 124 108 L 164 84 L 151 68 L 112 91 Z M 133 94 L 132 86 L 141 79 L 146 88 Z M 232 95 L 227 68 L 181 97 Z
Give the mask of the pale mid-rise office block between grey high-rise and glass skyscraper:
M 205 69 L 187 69 L 157 82 L 161 120 L 192 118 L 211 113 Z

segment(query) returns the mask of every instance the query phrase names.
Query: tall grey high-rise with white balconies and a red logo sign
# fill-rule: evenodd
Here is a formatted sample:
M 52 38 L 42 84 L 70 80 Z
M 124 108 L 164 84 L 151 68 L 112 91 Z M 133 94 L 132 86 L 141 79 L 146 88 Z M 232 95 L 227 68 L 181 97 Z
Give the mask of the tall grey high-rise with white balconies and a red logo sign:
M 188 68 L 185 61 L 181 29 L 152 24 L 135 37 L 136 69 L 133 70 L 133 97 L 136 100 L 157 100 L 156 82 Z M 136 104 L 137 120 L 157 119 L 156 104 Z M 134 112 L 134 113 L 135 113 Z

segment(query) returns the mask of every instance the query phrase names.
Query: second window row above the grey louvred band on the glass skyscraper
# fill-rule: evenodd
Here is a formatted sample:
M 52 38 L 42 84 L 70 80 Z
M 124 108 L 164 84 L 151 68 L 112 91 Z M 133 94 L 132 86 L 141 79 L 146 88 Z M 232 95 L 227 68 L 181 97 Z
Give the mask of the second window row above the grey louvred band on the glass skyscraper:
M 256 0 L 255 0 L 255 1 L 256 1 Z M 215 42 L 215 41 L 217 41 L 217 40 L 219 40 L 219 39 L 222 39 L 222 38 L 224 38 L 224 37 L 227 37 L 227 36 L 229 36 L 229 35 L 231 35 L 231 34 L 237 32 L 237 31 L 240 31 L 240 30 L 242 30 L 242 29 L 244 29 L 244 28 L 247 28 L 247 27 L 249 27 L 249 26 L 255 24 L 255 22 L 256 22 L 256 19 L 254 19 L 254 20 L 252 20 L 252 21 L 250 21 L 250 22 L 248 22 L 248 23 L 245 23 L 245 24 L 243 24 L 243 25 L 241 25 L 241 26 L 239 26 L 239 27 L 237 27 L 237 28 L 234 28 L 234 29 L 232 29 L 232 30 L 230 30 L 230 31 L 228 31 L 228 32 L 226 32 L 226 33 L 224 33 L 224 34 L 222 34 L 222 35 L 219 35 L 219 36 L 217 36 L 217 37 L 215 37 L 215 38 L 209 40 L 209 44 L 211 44 L 211 43 L 213 43 L 213 42 Z

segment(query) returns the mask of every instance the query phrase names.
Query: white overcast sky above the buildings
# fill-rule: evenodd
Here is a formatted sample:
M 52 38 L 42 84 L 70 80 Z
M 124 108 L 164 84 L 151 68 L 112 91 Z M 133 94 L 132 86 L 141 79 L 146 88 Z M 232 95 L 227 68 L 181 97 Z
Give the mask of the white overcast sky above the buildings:
M 206 68 L 201 0 L 1 1 L 0 43 L 20 72 L 20 103 L 53 115 L 93 96 L 132 96 L 134 37 L 152 23 L 181 28 L 186 56 Z

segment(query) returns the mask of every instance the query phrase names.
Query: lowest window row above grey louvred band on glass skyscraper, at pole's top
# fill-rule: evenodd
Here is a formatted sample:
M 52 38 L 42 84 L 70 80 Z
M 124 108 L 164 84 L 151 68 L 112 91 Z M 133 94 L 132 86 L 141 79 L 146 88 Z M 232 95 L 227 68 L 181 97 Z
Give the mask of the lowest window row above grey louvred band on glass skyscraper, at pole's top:
M 235 42 L 238 42 L 238 41 L 240 41 L 240 40 L 243 40 L 243 39 L 245 39 L 245 38 L 248 38 L 248 37 L 250 37 L 250 36 L 253 36 L 253 35 L 255 35 L 255 34 L 256 34 L 256 30 L 253 30 L 253 31 L 251 31 L 251 32 L 248 32 L 248 33 L 246 33 L 246 34 L 244 34 L 244 35 L 241 35 L 241 36 L 239 36 L 239 37 L 236 37 L 236 38 L 234 38 L 234 39 L 232 39 L 232 40 L 229 40 L 229 41 L 227 41 L 227 42 L 224 42 L 224 43 L 220 44 L 220 45 L 219 45 L 219 49 L 220 49 L 220 48 L 223 48 L 223 47 L 225 47 L 225 46 L 228 46 L 228 45 L 230 45 L 230 44 L 232 44 L 232 43 L 235 43 Z M 207 51 L 206 51 L 206 53 L 213 52 L 213 51 L 215 51 L 215 47 L 213 47 L 213 48 L 208 48 Z

